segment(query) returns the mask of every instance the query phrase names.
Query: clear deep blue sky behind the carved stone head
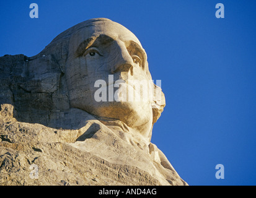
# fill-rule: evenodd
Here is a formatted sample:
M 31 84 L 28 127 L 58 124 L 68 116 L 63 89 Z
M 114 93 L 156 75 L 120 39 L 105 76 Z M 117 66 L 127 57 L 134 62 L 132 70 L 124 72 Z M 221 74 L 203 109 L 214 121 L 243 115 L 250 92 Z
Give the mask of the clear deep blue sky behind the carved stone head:
M 38 19 L 29 5 L 37 3 Z M 224 19 L 216 19 L 217 3 Z M 105 17 L 135 33 L 166 108 L 152 142 L 190 185 L 256 185 L 256 1 L 4 1 L 0 56 L 33 56 Z M 224 165 L 224 179 L 215 166 Z

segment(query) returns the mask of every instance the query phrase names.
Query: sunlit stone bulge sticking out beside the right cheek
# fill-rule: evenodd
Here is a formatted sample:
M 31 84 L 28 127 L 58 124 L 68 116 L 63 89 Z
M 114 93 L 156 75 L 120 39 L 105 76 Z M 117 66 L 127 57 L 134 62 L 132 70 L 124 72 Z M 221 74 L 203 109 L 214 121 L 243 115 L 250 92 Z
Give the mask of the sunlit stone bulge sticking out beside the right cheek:
M 161 116 L 162 111 L 164 111 L 164 106 L 166 106 L 166 98 L 162 89 L 154 84 L 154 96 L 151 103 L 153 121 L 152 124 L 156 123 L 157 119 Z

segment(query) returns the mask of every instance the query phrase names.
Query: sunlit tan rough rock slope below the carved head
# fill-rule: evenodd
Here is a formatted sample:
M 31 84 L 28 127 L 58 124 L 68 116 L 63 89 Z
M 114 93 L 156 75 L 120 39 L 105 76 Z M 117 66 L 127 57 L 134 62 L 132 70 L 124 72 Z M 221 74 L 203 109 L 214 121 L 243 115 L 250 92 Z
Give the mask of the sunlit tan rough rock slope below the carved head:
M 168 163 L 156 161 L 154 144 L 148 155 L 99 121 L 77 130 L 54 129 L 15 121 L 12 110 L 1 105 L 0 185 L 186 184 Z M 33 164 L 38 179 L 30 177 Z

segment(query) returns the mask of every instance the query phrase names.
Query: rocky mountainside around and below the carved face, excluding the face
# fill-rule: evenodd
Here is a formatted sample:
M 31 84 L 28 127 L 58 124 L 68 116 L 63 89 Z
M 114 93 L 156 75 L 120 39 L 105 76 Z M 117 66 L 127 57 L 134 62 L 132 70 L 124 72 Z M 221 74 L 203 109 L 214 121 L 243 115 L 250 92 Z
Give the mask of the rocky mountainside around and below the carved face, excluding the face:
M 121 121 L 71 106 L 64 61 L 74 45 L 67 38 L 83 25 L 36 56 L 0 57 L 0 185 L 187 185 L 150 142 L 152 128 L 144 140 Z M 162 108 L 152 110 L 150 127 Z

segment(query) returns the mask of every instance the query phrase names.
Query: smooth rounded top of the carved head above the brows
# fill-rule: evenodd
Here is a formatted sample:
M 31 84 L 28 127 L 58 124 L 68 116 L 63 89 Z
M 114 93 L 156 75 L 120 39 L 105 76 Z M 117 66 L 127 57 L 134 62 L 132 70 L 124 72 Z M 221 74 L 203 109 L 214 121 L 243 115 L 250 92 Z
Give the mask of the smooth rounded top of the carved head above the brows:
M 55 54 L 56 59 L 66 59 L 66 56 L 72 58 L 76 56 L 75 53 L 82 42 L 88 38 L 99 37 L 102 34 L 116 40 L 133 41 L 143 49 L 138 38 L 130 30 L 123 27 L 123 25 L 113 22 L 110 19 L 96 18 L 86 20 L 68 28 L 68 30 L 60 33 L 45 49 L 32 58 L 40 57 L 42 54 Z

